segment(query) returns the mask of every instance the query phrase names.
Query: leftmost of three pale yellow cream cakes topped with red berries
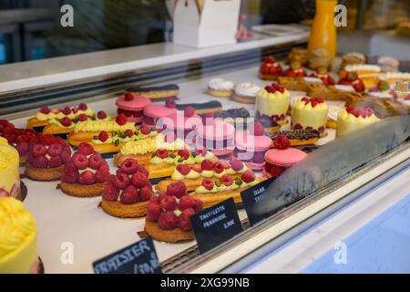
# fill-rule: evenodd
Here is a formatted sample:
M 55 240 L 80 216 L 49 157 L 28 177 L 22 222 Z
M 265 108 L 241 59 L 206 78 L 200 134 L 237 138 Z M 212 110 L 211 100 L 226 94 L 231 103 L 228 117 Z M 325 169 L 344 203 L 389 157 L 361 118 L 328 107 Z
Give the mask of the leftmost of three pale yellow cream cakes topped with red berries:
M 290 93 L 281 85 L 272 83 L 265 86 L 256 95 L 256 120 L 272 120 L 283 125 L 288 122 Z

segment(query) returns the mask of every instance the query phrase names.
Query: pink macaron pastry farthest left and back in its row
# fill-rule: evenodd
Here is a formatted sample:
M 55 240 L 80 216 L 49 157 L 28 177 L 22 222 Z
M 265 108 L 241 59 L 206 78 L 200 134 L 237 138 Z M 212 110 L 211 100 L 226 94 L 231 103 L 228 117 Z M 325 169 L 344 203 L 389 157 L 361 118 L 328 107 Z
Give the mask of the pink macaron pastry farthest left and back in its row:
M 140 124 L 144 108 L 151 103 L 150 99 L 135 95 L 131 92 L 118 97 L 116 104 L 118 107 L 118 115 L 123 113 L 127 117 L 127 121 Z

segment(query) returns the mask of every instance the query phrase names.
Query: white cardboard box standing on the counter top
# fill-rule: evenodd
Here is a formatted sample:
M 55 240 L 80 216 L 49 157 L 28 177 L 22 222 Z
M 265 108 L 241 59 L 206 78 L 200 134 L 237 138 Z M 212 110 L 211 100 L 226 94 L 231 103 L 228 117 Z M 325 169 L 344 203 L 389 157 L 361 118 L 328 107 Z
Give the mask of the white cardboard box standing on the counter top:
M 236 43 L 240 8 L 241 0 L 178 0 L 173 42 L 190 47 Z

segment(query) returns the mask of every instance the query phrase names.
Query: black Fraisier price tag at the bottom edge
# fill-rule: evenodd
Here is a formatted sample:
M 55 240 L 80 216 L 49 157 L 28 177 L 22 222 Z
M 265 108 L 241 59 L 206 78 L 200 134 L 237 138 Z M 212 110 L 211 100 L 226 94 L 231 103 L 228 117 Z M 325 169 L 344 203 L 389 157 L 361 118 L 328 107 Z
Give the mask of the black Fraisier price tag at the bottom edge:
M 96 274 L 162 274 L 151 237 L 97 260 L 93 267 Z

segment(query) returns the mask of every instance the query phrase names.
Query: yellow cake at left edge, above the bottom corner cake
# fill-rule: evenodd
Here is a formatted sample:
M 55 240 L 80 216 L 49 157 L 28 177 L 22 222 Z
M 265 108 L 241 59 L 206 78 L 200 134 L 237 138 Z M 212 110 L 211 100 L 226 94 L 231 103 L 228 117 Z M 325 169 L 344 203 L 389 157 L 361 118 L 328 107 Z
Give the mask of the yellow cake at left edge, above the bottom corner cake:
M 14 147 L 0 137 L 0 197 L 20 194 L 20 158 Z

